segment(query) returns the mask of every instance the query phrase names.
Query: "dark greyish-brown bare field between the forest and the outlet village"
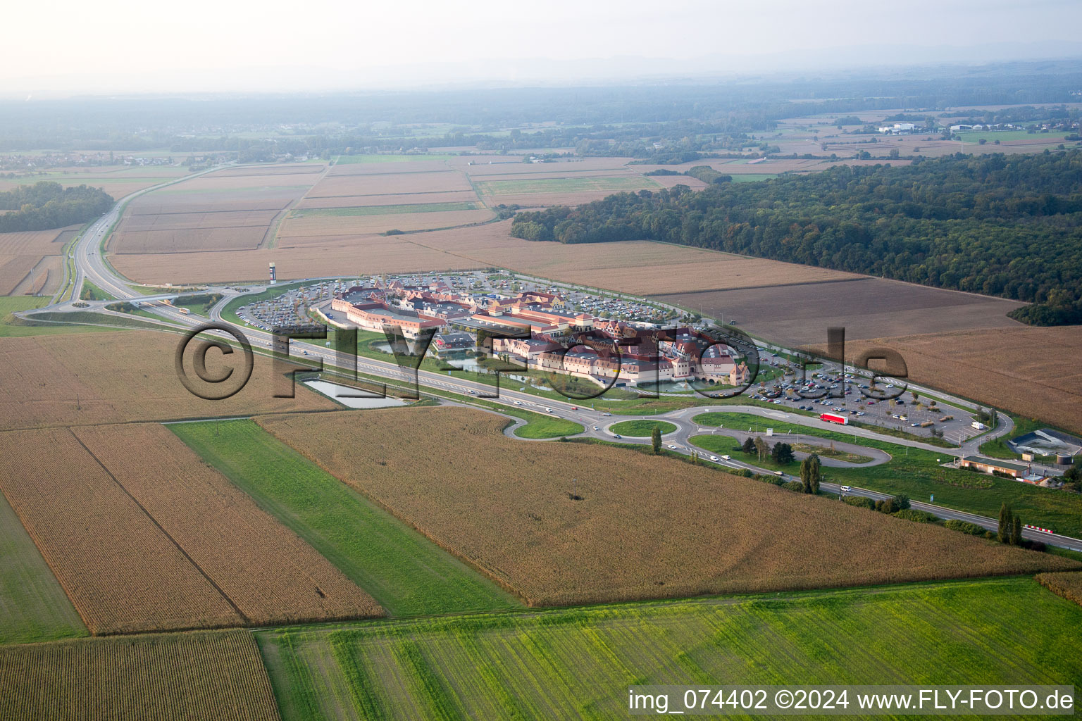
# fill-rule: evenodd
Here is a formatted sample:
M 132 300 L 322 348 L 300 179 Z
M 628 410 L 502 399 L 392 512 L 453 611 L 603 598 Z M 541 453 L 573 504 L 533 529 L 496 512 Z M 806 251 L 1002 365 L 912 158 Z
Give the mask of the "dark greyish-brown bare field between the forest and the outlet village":
M 800 267 L 800 266 L 794 266 Z M 665 303 L 736 320 L 740 328 L 789 346 L 826 342 L 828 326 L 846 338 L 1019 328 L 1006 313 L 1024 305 L 986 295 L 868 277 L 769 289 L 655 294 Z

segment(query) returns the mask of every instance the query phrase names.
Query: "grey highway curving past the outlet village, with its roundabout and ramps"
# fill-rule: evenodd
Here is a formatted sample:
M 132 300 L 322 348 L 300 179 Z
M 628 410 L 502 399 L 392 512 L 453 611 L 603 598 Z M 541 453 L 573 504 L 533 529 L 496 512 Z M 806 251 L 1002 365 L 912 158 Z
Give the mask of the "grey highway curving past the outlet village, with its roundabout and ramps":
M 184 178 L 179 178 L 176 181 L 171 181 L 169 183 L 145 188 L 143 190 L 133 192 L 127 196 L 126 198 L 121 199 L 120 201 L 118 201 L 117 204 L 108 213 L 106 213 L 100 219 L 93 223 L 83 232 L 83 235 L 76 241 L 76 244 L 72 249 L 72 255 L 76 267 L 75 288 L 71 291 L 70 295 L 68 295 L 67 292 L 65 292 L 64 295 L 68 296 L 69 298 L 75 298 L 76 301 L 78 301 L 83 283 L 87 280 L 90 280 L 100 289 L 109 293 L 116 298 L 146 303 L 144 308 L 159 316 L 161 318 L 161 321 L 157 322 L 162 324 L 163 326 L 169 326 L 172 329 L 193 329 L 204 324 L 207 320 L 206 318 L 202 318 L 200 316 L 182 313 L 175 307 L 169 305 L 149 303 L 153 301 L 160 301 L 166 297 L 176 297 L 177 295 L 183 295 L 183 293 L 177 292 L 171 295 L 138 294 L 132 289 L 131 285 L 129 285 L 127 279 L 116 275 L 113 271 L 109 265 L 102 257 L 101 245 L 102 242 L 105 240 L 106 235 L 109 232 L 109 229 L 113 227 L 113 225 L 119 218 L 120 214 L 123 212 L 124 204 L 130 200 L 132 200 L 133 198 L 144 195 L 146 192 L 150 192 L 158 188 L 164 187 L 167 185 L 172 185 L 173 183 L 179 183 L 181 181 L 189 179 L 192 177 L 197 177 L 199 175 L 213 172 L 214 170 L 219 169 L 212 168 L 207 171 L 196 173 L 194 175 L 185 176 Z M 252 288 L 251 292 L 258 292 L 264 289 Z M 252 344 L 253 349 L 259 349 L 261 351 L 269 352 L 272 347 L 272 337 L 273 337 L 270 333 L 259 329 L 238 325 L 236 323 L 228 321 L 222 316 L 222 311 L 228 304 L 228 302 L 239 295 L 239 293 L 235 289 L 230 286 L 212 285 L 208 286 L 206 290 L 200 290 L 199 292 L 220 293 L 223 296 L 221 301 L 219 301 L 210 309 L 211 320 L 217 323 L 224 323 L 230 325 L 236 330 L 238 330 Z M 102 312 L 105 315 L 115 315 L 124 318 L 132 318 L 132 316 L 130 315 L 118 313 L 105 309 L 104 306 L 107 305 L 106 302 L 82 302 L 82 305 L 84 307 L 78 307 L 74 305 L 72 301 L 70 299 L 68 301 L 57 299 L 57 302 L 55 302 L 50 306 L 44 306 L 36 310 L 23 311 L 18 315 L 24 318 L 32 318 L 34 315 L 40 312 L 70 312 L 77 310 L 82 310 L 82 311 L 90 310 L 90 311 Z M 146 318 L 140 318 L 140 320 L 146 321 L 148 323 L 156 322 L 153 319 L 146 319 Z M 226 338 L 228 337 L 226 334 L 216 331 L 211 332 L 211 334 Z M 333 350 L 327 348 L 321 343 L 292 341 L 290 343 L 290 346 L 291 346 L 291 356 L 295 357 L 295 360 L 300 364 L 311 363 L 312 361 L 320 361 L 324 368 L 328 370 L 337 370 L 339 373 L 342 372 L 348 373 L 348 369 L 344 369 L 338 365 L 338 359 Z M 778 350 L 778 351 L 784 350 L 782 348 L 770 346 L 768 344 L 762 344 L 762 347 L 767 350 Z M 403 370 L 396 363 L 391 361 L 382 361 L 382 360 L 358 357 L 356 359 L 356 366 L 359 373 L 386 378 L 387 380 L 396 383 L 398 385 L 405 385 L 405 384 L 412 385 L 414 379 L 413 374 Z M 553 417 L 564 418 L 580 424 L 584 428 L 583 432 L 579 435 L 580 437 L 589 437 L 598 440 L 613 441 L 616 439 L 613 438 L 612 432 L 609 430 L 609 427 L 616 422 L 631 419 L 631 418 L 665 420 L 672 423 L 677 427 L 676 431 L 664 437 L 663 440 L 665 445 L 675 445 L 676 448 L 672 450 L 685 455 L 690 455 L 691 453 L 698 452 L 700 457 L 703 457 L 703 455 L 709 457 L 710 454 L 709 453 L 704 454 L 702 450 L 696 449 L 695 446 L 691 445 L 690 438 L 692 436 L 701 433 L 720 432 L 733 436 L 734 438 L 737 439 L 741 439 L 743 437 L 743 431 L 741 431 L 738 428 L 726 428 L 726 429 L 700 428 L 698 424 L 695 424 L 691 420 L 696 415 L 700 413 L 741 412 L 762 417 L 764 419 L 764 427 L 768 427 L 767 424 L 775 422 L 777 424 L 822 428 L 822 422 L 819 420 L 818 418 L 800 415 L 796 413 L 789 413 L 782 410 L 781 408 L 771 409 L 758 405 L 702 405 L 696 408 L 681 409 L 669 413 L 651 415 L 651 416 L 645 416 L 645 415 L 621 416 L 619 414 L 609 416 L 609 415 L 603 415 L 601 412 L 593 411 L 592 409 L 590 409 L 589 408 L 590 401 L 543 399 L 529 392 L 519 391 L 517 388 L 519 387 L 520 384 L 510 378 L 501 378 L 500 392 L 498 398 L 486 398 L 485 395 L 491 393 L 493 391 L 493 388 L 484 383 L 471 382 L 469 379 L 470 375 L 469 373 L 461 372 L 461 373 L 448 374 L 448 373 L 435 373 L 432 371 L 424 371 L 424 370 L 417 371 L 415 373 L 417 373 L 415 378 L 418 383 L 426 388 L 457 393 L 460 396 L 464 396 L 467 399 L 484 398 L 485 400 L 492 403 L 503 404 L 509 408 L 519 408 L 523 410 L 533 411 L 537 413 L 543 413 L 551 415 Z M 956 399 L 939 391 L 935 391 L 932 389 L 920 389 L 920 390 L 924 391 L 925 397 L 939 398 L 955 405 L 964 408 L 976 406 L 976 404 L 974 404 L 971 401 L 966 401 L 964 399 Z M 1003 416 L 1002 414 L 1000 414 L 999 418 L 1000 422 L 997 425 L 995 429 L 987 433 L 982 433 L 978 438 L 967 439 L 965 442 L 963 442 L 961 448 L 954 448 L 954 449 L 945 449 L 941 446 L 932 445 L 916 440 L 897 438 L 894 436 L 887 436 L 885 433 L 878 433 L 873 430 L 869 430 L 866 428 L 855 428 L 849 426 L 849 427 L 844 427 L 843 430 L 842 428 L 832 426 L 831 429 L 839 430 L 841 432 L 845 432 L 846 435 L 853 436 L 855 441 L 854 443 L 850 444 L 840 443 L 839 445 L 845 446 L 843 450 L 849 450 L 860 455 L 870 456 L 872 458 L 872 462 L 863 465 L 871 466 L 871 465 L 886 463 L 889 459 L 889 455 L 882 451 L 878 451 L 875 449 L 870 449 L 868 446 L 859 445 L 859 443 L 856 441 L 858 441 L 860 438 L 879 440 L 895 445 L 924 449 L 933 451 L 935 453 L 940 453 L 945 457 L 976 455 L 977 448 L 979 446 L 980 443 L 991 438 L 997 438 L 1002 435 L 1011 432 L 1013 425 L 1010 418 Z M 781 437 L 779 436 L 778 438 Z M 810 436 L 808 437 L 800 436 L 799 438 L 802 439 L 799 442 L 819 442 L 819 443 L 822 442 L 822 439 L 816 439 L 815 437 Z M 620 442 L 648 443 L 649 439 L 622 438 L 620 439 Z M 710 462 L 708 460 L 707 463 Z M 756 473 L 773 475 L 773 471 L 770 470 L 757 468 L 754 465 L 747 464 L 740 460 L 733 460 L 733 459 L 720 460 L 715 465 L 731 469 L 743 468 Z M 823 465 L 843 466 L 847 464 L 832 462 L 829 458 L 823 458 Z M 848 464 L 847 466 L 852 467 L 852 464 Z M 788 480 L 794 480 L 792 479 L 792 477 L 786 477 L 786 478 Z M 822 488 L 824 490 L 832 491 L 835 493 L 839 492 L 839 486 L 837 484 L 834 483 L 823 483 Z M 867 496 L 869 498 L 874 498 L 874 499 L 889 497 L 889 495 L 885 493 L 871 491 L 867 489 L 858 489 L 858 488 L 853 488 L 853 490 L 849 491 L 849 493 Z M 942 506 L 936 506 L 915 500 L 911 502 L 911 504 L 913 508 L 916 508 L 919 510 L 924 510 L 929 513 L 934 513 L 935 516 L 942 519 L 964 520 L 971 523 L 976 523 L 992 531 L 994 531 L 998 528 L 997 519 L 976 516 L 964 511 L 956 511 Z M 1082 539 L 1079 538 L 1072 538 L 1070 536 L 1063 536 L 1058 534 L 1046 534 L 1032 530 L 1025 530 L 1022 532 L 1022 535 L 1026 538 L 1030 538 L 1033 540 L 1041 540 L 1046 544 L 1052 544 L 1056 546 L 1061 546 L 1064 548 L 1071 548 L 1073 550 L 1082 551 Z

